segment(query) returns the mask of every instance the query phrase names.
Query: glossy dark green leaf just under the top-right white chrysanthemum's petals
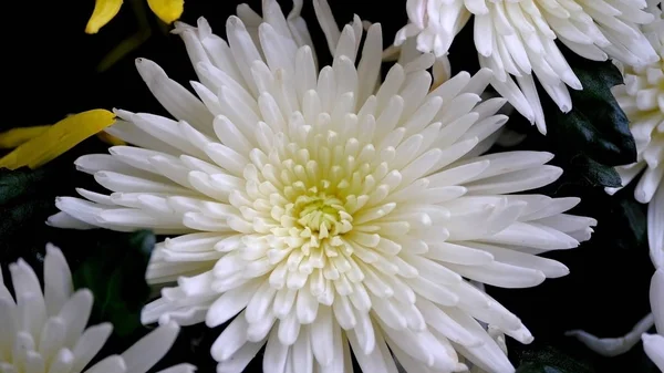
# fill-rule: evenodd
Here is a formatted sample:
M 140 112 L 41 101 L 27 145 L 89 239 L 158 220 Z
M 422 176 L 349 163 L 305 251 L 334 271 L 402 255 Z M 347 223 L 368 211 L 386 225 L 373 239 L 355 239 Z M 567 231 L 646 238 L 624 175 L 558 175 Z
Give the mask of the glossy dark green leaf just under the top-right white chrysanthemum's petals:
M 611 93 L 612 86 L 623 83 L 618 68 L 609 61 L 592 62 L 573 56 L 568 61 L 583 90 L 570 90 L 573 107 L 567 114 L 550 99 L 546 100 L 544 115 L 552 122 L 548 126 L 549 135 L 562 152 L 584 154 L 608 166 L 635 162 L 636 146 L 627 116 Z

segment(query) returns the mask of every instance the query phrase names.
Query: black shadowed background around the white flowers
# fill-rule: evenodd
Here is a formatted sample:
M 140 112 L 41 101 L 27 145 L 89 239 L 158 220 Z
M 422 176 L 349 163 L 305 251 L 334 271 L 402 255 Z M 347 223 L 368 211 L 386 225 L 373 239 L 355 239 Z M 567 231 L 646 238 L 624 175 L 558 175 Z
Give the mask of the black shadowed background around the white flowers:
M 158 20 L 149 14 L 153 35 L 135 52 L 117 62 L 103 73 L 96 65 L 123 39 L 131 37 L 137 22 L 128 4 L 104 27 L 98 34 L 84 33 L 93 2 L 89 1 L 22 1 L 14 2 L 4 25 L 3 37 L 3 118 L 0 131 L 19 126 L 52 124 L 70 113 L 90 108 L 122 107 L 129 111 L 166 114 L 152 97 L 134 66 L 134 59 L 142 56 L 157 62 L 170 77 L 183 83 L 195 79 L 184 44 L 177 35 L 159 31 Z M 235 13 L 238 0 L 187 0 L 183 21 L 195 24 L 205 15 L 218 34 L 225 33 L 226 19 Z M 260 1 L 248 1 L 255 10 Z M 372 22 L 383 23 L 385 44 L 390 44 L 394 33 L 406 22 L 405 0 L 361 0 L 334 1 L 331 6 L 339 23 L 352 20 L 353 12 Z M 280 1 L 284 10 L 290 1 Z M 304 18 L 308 21 L 322 62 L 329 61 L 321 30 L 318 28 L 310 1 L 305 1 Z M 466 29 L 452 50 L 453 69 L 476 70 L 477 60 L 471 35 Z M 518 122 L 515 121 L 515 122 Z M 535 128 L 526 128 L 532 141 L 523 146 L 538 149 L 546 145 L 546 138 Z M 544 145 L 543 145 L 544 144 Z M 82 144 L 72 154 L 101 149 L 104 145 L 96 138 Z M 65 155 L 60 162 L 63 184 L 43 185 L 58 194 L 73 194 L 72 185 L 87 179 L 76 175 L 71 166 L 74 155 Z M 83 183 L 83 182 L 81 182 Z M 89 183 L 89 182 L 87 182 Z M 532 289 L 504 290 L 489 289 L 489 292 L 508 309 L 519 315 L 536 336 L 529 349 L 553 345 L 570 355 L 593 366 L 594 372 L 656 372 L 647 361 L 641 344 L 629 354 L 614 359 L 600 359 L 582 345 L 563 336 L 570 329 L 585 329 L 601 336 L 619 336 L 627 332 L 644 317 L 649 309 L 647 292 L 653 273 L 644 241 L 645 231 L 630 242 L 619 245 L 616 231 L 624 229 L 624 222 L 614 220 L 621 205 L 616 205 L 601 189 L 581 189 L 566 186 L 564 182 L 552 190 L 557 196 L 582 196 L 584 203 L 579 211 L 600 220 L 591 242 L 566 252 L 551 255 L 566 263 L 571 274 L 556 280 L 547 280 Z M 631 190 L 622 194 L 629 197 Z M 48 204 L 48 201 L 43 201 Z M 44 219 L 53 211 L 40 213 L 34 219 L 18 227 L 12 238 L 3 238 L 0 246 L 7 263 L 21 256 L 22 247 L 42 247 L 45 241 L 61 242 L 63 249 L 91 235 L 63 236 L 43 226 Z M 634 214 L 643 214 L 639 208 Z M 20 228 L 20 229 L 19 229 Z M 643 230 L 643 229 L 642 229 Z M 7 236 L 6 236 L 7 237 Z M 11 252 L 11 255 L 7 255 Z M 214 372 L 214 362 L 208 355 L 209 345 L 220 329 L 206 331 L 205 328 L 187 328 L 168 356 L 167 362 L 188 361 L 199 365 L 199 372 Z M 122 343 L 121 343 L 122 344 Z M 517 364 L 527 352 L 518 343 L 511 343 L 510 358 Z M 122 351 L 122 350 L 120 350 Z M 165 365 L 165 362 L 162 365 Z M 260 360 L 248 371 L 260 371 Z M 544 372 L 544 371 L 542 371 Z M 577 372 L 568 372 L 577 373 Z

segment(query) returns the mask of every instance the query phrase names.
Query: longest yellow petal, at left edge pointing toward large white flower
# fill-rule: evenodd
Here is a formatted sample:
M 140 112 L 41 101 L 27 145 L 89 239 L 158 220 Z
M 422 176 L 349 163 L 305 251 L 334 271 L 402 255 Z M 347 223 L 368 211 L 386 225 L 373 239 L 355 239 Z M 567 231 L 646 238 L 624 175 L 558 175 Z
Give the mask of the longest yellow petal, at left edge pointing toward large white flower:
M 115 115 L 102 108 L 70 115 L 2 157 L 0 168 L 17 169 L 23 166 L 37 168 L 114 122 Z

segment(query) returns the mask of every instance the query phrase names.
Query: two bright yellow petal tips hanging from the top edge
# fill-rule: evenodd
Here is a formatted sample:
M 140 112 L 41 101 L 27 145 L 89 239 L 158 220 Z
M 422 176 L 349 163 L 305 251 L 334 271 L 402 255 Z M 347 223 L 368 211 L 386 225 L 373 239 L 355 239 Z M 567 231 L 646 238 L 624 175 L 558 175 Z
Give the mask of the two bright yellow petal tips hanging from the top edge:
M 94 11 L 87 25 L 85 27 L 86 33 L 96 33 L 103 28 L 108 21 L 111 21 L 120 11 L 123 0 L 95 0 Z M 162 21 L 166 23 L 173 23 L 181 14 L 185 7 L 184 0 L 147 0 L 149 9 L 155 13 Z

